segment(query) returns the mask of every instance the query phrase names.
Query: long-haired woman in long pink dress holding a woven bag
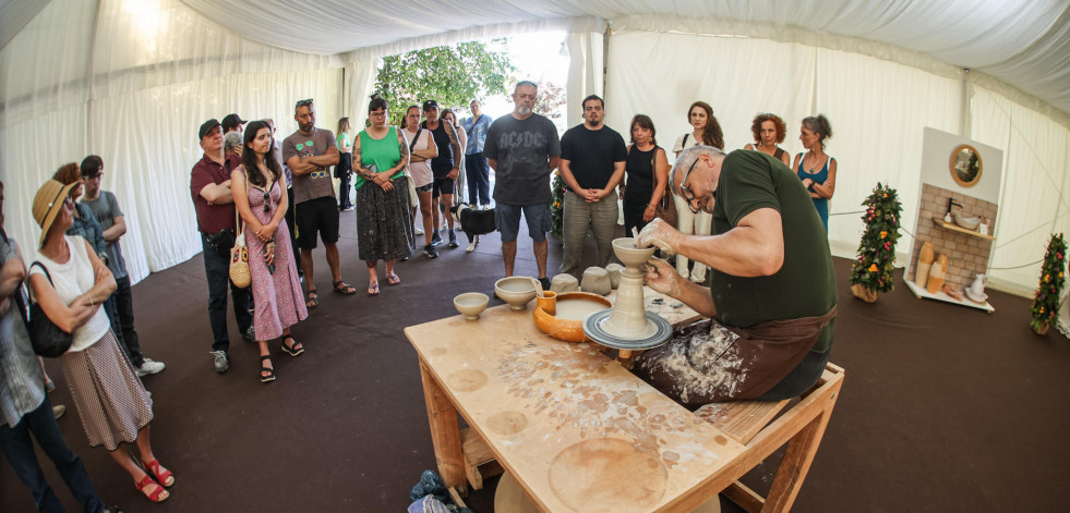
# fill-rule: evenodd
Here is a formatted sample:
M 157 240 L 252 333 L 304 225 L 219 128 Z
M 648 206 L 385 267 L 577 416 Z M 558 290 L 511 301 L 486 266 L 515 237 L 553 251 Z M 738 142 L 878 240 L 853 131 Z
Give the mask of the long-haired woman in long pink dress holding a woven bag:
M 249 273 L 252 278 L 253 331 L 260 344 L 260 380 L 275 380 L 267 341 L 282 338 L 290 356 L 304 352 L 293 340 L 290 327 L 309 316 L 301 296 L 297 264 L 290 249 L 290 233 L 282 222 L 289 208 L 282 192 L 282 166 L 272 150 L 272 129 L 253 121 L 245 126 L 241 166 L 230 173 L 235 207 L 245 222 Z

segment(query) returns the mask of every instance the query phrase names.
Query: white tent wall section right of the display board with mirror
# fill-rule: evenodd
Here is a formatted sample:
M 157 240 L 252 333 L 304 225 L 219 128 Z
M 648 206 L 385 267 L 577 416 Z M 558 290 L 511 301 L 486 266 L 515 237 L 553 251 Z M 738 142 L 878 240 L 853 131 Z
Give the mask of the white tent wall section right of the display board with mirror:
M 1032 294 L 1051 233 L 1070 231 L 1070 131 L 990 89 L 972 89 L 971 138 L 1003 149 L 990 283 Z

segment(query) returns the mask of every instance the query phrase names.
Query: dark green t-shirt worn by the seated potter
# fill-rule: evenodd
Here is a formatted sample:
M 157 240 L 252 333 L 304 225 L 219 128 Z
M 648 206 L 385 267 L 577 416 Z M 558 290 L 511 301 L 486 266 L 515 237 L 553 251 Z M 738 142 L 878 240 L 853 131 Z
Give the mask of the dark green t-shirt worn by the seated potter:
M 732 151 L 724 158 L 713 197 L 714 234 L 735 228 L 759 208 L 779 211 L 784 233 L 784 265 L 776 274 L 741 278 L 713 270 L 713 305 L 720 322 L 748 328 L 821 316 L 835 305 L 828 235 L 803 182 L 790 168 L 761 151 Z M 832 319 L 813 351 L 828 351 L 834 332 Z

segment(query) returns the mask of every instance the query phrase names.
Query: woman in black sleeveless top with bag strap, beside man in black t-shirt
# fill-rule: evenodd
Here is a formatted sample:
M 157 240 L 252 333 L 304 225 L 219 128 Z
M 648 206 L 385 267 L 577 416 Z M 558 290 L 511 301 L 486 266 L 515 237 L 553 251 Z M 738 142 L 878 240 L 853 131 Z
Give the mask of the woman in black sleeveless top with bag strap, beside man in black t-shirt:
M 636 114 L 632 118 L 630 132 L 632 146 L 624 166 L 627 188 L 621 185 L 625 233 L 642 230 L 658 217 L 658 206 L 665 198 L 669 183 L 669 158 L 654 138 L 653 121 L 649 115 Z

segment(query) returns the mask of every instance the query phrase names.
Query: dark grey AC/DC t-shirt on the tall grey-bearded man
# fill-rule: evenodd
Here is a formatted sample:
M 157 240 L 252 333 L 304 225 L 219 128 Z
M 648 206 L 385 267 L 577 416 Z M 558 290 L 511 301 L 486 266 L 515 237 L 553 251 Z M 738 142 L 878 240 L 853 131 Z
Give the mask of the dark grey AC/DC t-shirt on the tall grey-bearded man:
M 494 200 L 518 206 L 553 200 L 550 159 L 558 156 L 557 129 L 545 117 L 518 120 L 506 114 L 494 120 L 483 146 L 483 157 L 497 160 Z

